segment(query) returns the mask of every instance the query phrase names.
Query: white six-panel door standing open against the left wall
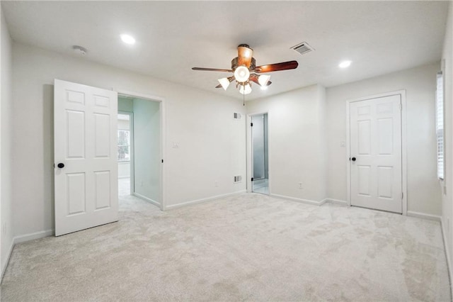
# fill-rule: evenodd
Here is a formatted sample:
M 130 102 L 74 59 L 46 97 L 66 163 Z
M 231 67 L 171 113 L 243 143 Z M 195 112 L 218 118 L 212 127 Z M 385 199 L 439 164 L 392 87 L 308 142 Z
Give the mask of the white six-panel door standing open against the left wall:
M 55 235 L 118 220 L 117 93 L 55 79 Z

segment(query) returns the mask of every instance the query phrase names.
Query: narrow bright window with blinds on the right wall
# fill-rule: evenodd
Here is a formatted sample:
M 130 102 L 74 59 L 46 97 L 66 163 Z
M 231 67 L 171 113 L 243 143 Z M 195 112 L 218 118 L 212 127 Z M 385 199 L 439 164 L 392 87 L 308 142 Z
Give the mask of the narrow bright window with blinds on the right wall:
M 444 179 L 444 77 L 437 74 L 436 89 L 437 177 Z

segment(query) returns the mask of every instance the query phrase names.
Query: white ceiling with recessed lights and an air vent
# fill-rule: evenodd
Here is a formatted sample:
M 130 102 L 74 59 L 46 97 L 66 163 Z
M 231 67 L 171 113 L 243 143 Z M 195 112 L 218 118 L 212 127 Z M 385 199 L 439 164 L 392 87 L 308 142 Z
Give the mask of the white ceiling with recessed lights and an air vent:
M 246 43 L 257 65 L 297 60 L 272 72 L 267 91 L 309 84 L 336 86 L 440 60 L 448 1 L 1 1 L 11 37 L 19 43 L 76 55 L 171 82 L 241 98 L 231 85 L 215 89 L 236 47 Z M 121 42 L 130 33 L 137 43 Z M 303 41 L 306 55 L 290 47 Z M 339 69 L 341 60 L 352 60 Z

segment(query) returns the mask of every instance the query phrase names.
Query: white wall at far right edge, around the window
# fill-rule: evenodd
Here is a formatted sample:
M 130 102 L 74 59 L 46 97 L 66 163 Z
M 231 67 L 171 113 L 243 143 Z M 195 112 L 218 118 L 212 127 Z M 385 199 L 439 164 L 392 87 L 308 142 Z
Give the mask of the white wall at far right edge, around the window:
M 447 28 L 445 30 L 444 49 L 442 60 L 444 67 L 445 89 L 445 195 L 442 197 L 442 230 L 445 238 L 445 249 L 449 260 L 450 276 L 453 272 L 453 4 L 448 11 Z M 442 186 L 440 191 L 442 191 Z

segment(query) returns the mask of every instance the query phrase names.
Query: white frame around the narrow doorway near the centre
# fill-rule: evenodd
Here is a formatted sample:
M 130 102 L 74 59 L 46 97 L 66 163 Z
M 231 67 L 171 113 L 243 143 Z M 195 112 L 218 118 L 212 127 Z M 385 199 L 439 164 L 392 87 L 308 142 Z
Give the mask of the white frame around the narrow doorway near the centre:
M 269 127 L 269 111 L 260 111 L 260 112 L 254 112 L 254 113 L 247 113 L 246 117 L 246 150 L 247 150 L 247 157 L 246 157 L 246 164 L 247 164 L 247 182 L 246 182 L 246 189 L 247 193 L 253 193 L 253 184 L 251 181 L 252 175 L 253 175 L 253 157 L 252 157 L 252 152 L 253 152 L 253 144 L 252 144 L 252 128 L 250 126 L 252 122 L 252 116 L 259 116 L 261 114 L 268 114 L 268 189 L 269 189 L 269 196 L 272 194 L 271 192 L 271 182 L 270 181 L 270 176 L 271 174 L 271 164 L 270 164 L 270 127 Z

